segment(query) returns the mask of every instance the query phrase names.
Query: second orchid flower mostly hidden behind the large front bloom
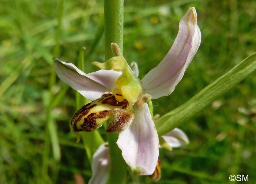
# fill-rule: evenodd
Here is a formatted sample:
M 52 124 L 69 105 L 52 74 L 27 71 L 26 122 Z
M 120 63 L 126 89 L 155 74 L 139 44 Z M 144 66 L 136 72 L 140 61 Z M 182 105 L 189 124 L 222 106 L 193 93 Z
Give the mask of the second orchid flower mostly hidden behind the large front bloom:
M 175 128 L 171 132 L 163 135 L 162 138 L 164 138 L 166 143 L 172 148 L 177 148 L 189 143 L 187 135 L 178 128 Z M 161 148 L 161 146 L 159 146 L 159 148 Z M 110 170 L 109 163 L 109 147 L 107 142 L 105 142 L 99 146 L 93 155 L 91 163 L 92 176 L 89 180 L 89 184 L 105 184 L 107 182 Z M 150 177 L 155 181 L 158 181 L 161 178 L 161 162 L 159 158 L 155 171 L 150 175 Z

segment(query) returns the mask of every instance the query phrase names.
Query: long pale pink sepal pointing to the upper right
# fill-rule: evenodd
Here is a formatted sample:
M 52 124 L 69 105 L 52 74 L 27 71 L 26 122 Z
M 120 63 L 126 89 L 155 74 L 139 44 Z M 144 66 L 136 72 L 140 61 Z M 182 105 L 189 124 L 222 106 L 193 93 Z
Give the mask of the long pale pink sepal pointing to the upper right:
M 179 23 L 179 31 L 165 58 L 142 79 L 144 93 L 156 99 L 173 92 L 201 42 L 194 7 L 188 9 Z

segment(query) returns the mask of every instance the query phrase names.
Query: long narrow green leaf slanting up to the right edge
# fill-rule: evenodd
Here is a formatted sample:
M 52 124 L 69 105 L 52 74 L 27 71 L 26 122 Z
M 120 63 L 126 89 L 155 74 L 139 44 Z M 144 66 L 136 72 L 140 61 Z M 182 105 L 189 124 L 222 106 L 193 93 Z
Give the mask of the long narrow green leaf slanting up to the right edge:
M 210 105 L 219 96 L 229 91 L 255 69 L 256 53 L 237 64 L 229 72 L 189 99 L 189 101 L 157 119 L 155 125 L 158 135 L 162 136 L 196 116 L 204 107 Z

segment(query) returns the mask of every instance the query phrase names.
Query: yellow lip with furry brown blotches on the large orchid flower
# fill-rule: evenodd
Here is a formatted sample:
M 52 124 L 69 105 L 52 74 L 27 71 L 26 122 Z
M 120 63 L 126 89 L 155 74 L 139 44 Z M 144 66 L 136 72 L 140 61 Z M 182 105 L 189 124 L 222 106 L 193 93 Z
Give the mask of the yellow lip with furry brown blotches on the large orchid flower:
M 118 102 L 112 93 L 105 93 L 101 98 L 87 103 L 76 111 L 70 121 L 70 127 L 74 132 L 91 132 L 99 128 L 106 119 L 114 117 L 110 121 L 112 123 L 110 123 L 106 131 L 121 131 L 127 125 L 131 124 L 133 120 L 132 113 L 129 113 L 127 109 L 129 107 L 128 105 L 129 103 L 126 99 L 122 102 Z M 96 106 L 101 110 L 93 110 Z M 110 116 L 110 113 L 114 116 Z

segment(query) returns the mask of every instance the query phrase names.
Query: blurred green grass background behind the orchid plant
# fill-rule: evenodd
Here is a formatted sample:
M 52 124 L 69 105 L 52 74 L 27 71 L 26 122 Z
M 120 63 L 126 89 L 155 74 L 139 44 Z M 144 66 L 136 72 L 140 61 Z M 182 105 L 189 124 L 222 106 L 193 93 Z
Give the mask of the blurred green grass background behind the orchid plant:
M 125 0 L 124 57 L 138 63 L 140 78 L 169 51 L 178 22 L 192 6 L 201 46 L 176 90 L 153 100 L 154 114 L 182 105 L 256 51 L 256 1 Z M 83 142 L 76 143 L 68 125 L 76 111 L 75 91 L 52 74 L 52 57 L 76 64 L 80 48 L 86 47 L 85 72 L 98 70 L 90 63 L 104 61 L 102 20 L 101 0 L 1 0 L 1 184 L 90 179 Z M 190 143 L 172 152 L 160 150 L 161 180 L 128 170 L 125 183 L 226 184 L 238 174 L 255 183 L 255 74 L 179 127 Z M 104 129 L 99 132 L 106 137 Z

